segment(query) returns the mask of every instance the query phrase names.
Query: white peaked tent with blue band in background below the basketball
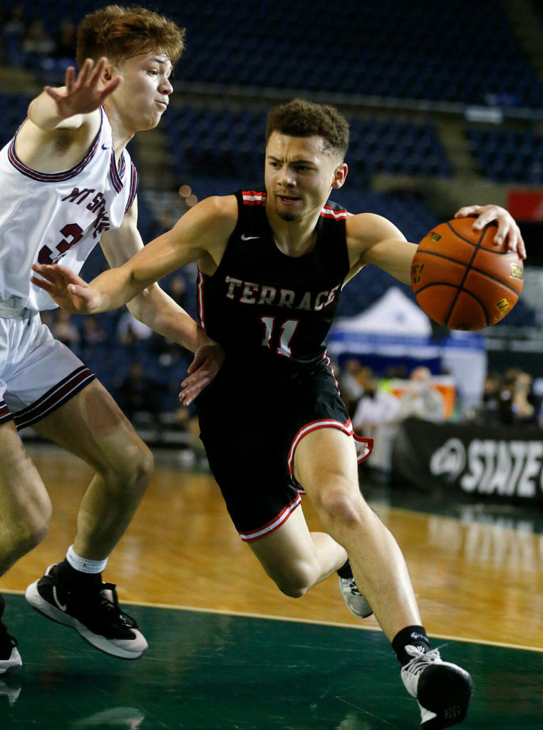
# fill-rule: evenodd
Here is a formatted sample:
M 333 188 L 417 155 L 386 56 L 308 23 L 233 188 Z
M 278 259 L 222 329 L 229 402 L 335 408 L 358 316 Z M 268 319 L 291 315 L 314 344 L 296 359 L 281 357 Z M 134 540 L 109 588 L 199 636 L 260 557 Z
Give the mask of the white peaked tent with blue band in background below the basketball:
M 348 288 L 343 296 L 348 296 Z M 442 371 L 455 379 L 461 407 L 465 412 L 480 404 L 487 371 L 485 342 L 475 332 L 451 331 L 450 337 L 431 337 L 428 317 L 398 287 L 385 294 L 359 315 L 336 320 L 328 335 L 332 358 L 374 354 L 421 361 L 439 359 Z

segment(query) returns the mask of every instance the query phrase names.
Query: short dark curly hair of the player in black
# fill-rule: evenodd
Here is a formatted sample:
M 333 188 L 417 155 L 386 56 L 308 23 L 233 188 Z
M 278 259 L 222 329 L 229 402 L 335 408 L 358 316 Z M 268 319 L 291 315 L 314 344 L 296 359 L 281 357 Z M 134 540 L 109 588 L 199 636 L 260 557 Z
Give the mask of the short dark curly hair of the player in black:
M 290 137 L 322 137 L 329 152 L 344 157 L 349 146 L 349 124 L 328 104 L 293 99 L 271 110 L 266 123 L 266 144 L 274 132 Z

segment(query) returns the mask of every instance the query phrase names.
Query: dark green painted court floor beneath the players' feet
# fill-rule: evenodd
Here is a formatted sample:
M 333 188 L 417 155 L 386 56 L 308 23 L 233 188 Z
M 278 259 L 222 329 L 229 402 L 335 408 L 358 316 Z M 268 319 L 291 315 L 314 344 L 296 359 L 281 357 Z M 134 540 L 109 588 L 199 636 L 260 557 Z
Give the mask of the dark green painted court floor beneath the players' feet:
M 379 631 L 131 606 L 150 649 L 139 661 L 120 661 L 39 616 L 23 596 L 5 597 L 23 669 L 0 677 L 1 730 L 420 726 Z M 476 687 L 458 727 L 543 727 L 543 653 L 457 641 L 445 653 L 469 669 Z

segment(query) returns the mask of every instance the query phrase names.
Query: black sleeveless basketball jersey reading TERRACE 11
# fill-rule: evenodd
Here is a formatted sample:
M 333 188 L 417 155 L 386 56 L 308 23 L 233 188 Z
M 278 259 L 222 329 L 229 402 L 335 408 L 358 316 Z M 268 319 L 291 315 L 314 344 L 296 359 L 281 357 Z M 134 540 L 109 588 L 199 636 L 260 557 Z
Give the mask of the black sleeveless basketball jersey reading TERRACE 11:
M 261 376 L 281 379 L 323 360 L 349 271 L 347 211 L 328 202 L 315 247 L 294 258 L 274 242 L 266 192 L 238 191 L 236 199 L 238 221 L 217 271 L 199 272 L 200 322 L 223 345 L 228 366 L 257 366 Z

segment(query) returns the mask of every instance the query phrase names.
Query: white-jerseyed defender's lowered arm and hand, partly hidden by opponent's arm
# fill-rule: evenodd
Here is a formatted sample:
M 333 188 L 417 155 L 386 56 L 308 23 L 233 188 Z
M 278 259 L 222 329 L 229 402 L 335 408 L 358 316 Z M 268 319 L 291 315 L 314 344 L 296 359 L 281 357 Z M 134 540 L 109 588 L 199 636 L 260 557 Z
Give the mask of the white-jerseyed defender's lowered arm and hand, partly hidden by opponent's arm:
M 142 237 L 137 228 L 137 200 L 126 212 L 120 228 L 101 235 L 100 245 L 112 268 L 122 266 L 143 248 Z M 147 286 L 134 299 L 128 301 L 126 306 L 136 319 L 153 331 L 195 353 L 188 368 L 189 377 L 181 384 L 183 391 L 180 400 L 189 405 L 215 377 L 223 364 L 223 348 L 210 339 L 201 326 L 158 283 Z

